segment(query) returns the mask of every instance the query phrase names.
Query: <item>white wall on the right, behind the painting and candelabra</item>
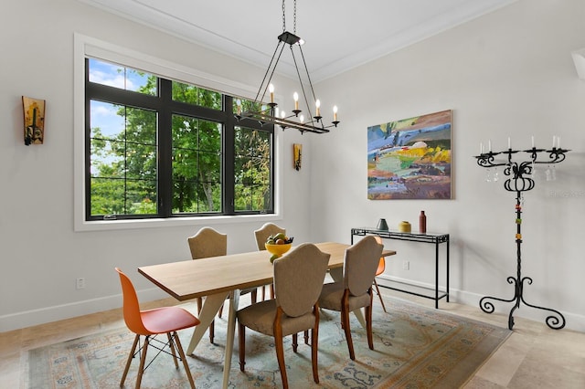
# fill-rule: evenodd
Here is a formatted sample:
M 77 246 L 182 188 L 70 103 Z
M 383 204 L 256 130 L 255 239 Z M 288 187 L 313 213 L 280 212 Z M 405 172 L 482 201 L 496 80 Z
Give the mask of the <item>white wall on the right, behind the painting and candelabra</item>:
M 416 229 L 425 210 L 429 231 L 452 238 L 454 300 L 478 307 L 485 295 L 511 299 L 516 194 L 503 180 L 484 182 L 473 155 L 489 139 L 503 150 L 508 136 L 513 147 L 529 148 L 532 135 L 537 147 L 550 147 L 558 135 L 573 150 L 558 164 L 558 180 L 538 181 L 525 194 L 522 271 L 534 282 L 524 297 L 585 331 L 585 80 L 570 56 L 585 47 L 584 18 L 580 0 L 521 0 L 319 85 L 343 122 L 312 143 L 311 206 L 321 216 L 312 219 L 312 237 L 347 241 L 352 226 L 376 226 L 380 217 L 395 228 L 410 220 Z M 367 200 L 367 127 L 439 110 L 453 114 L 452 200 Z M 399 253 L 388 261 L 388 276 L 432 281 L 432 245 L 391 240 L 386 247 Z M 512 306 L 496 308 L 507 313 Z M 547 314 L 516 310 L 538 321 Z

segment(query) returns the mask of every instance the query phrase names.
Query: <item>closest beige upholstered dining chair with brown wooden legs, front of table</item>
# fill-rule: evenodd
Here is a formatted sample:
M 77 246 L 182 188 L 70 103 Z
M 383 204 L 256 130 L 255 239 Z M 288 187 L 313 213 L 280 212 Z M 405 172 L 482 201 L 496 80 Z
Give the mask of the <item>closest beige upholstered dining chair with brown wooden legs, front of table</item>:
M 293 248 L 274 261 L 276 298 L 252 304 L 238 311 L 239 370 L 245 365 L 246 327 L 274 337 L 276 358 L 281 370 L 282 387 L 288 388 L 282 338 L 311 330 L 311 360 L 313 379 L 319 384 L 317 348 L 319 339 L 319 294 L 323 288 L 330 255 L 311 243 Z M 296 352 L 296 347 L 293 346 Z

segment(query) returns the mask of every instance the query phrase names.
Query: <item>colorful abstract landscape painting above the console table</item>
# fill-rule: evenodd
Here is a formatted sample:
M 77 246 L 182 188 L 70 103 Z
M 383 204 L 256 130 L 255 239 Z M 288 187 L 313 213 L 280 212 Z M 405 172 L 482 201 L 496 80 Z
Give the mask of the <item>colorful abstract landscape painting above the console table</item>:
M 367 198 L 451 199 L 452 111 L 367 128 Z

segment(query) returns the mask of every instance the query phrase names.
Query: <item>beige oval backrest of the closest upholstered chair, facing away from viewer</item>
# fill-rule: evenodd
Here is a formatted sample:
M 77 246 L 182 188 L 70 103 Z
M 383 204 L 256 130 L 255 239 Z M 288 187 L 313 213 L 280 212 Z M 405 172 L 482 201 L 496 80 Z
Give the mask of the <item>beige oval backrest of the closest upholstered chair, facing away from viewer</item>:
M 291 317 L 311 310 L 321 294 L 330 254 L 303 243 L 274 261 L 276 305 Z

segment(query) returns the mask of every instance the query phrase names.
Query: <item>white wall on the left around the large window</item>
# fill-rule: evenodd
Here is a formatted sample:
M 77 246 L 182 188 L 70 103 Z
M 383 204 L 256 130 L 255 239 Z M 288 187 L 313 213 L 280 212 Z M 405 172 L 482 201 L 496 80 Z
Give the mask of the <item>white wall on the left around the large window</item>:
M 119 307 L 122 298 L 115 266 L 132 276 L 144 300 L 165 297 L 136 268 L 190 258 L 186 237 L 200 226 L 213 223 L 227 233 L 229 253 L 256 249 L 253 230 L 270 217 L 248 217 L 239 223 L 206 219 L 183 226 L 74 230 L 74 132 L 83 131 L 74 124 L 74 33 L 254 89 L 264 69 L 78 1 L 5 3 L 0 13 L 0 331 Z M 23 95 L 47 100 L 42 145 L 23 142 Z M 286 197 L 282 216 L 274 221 L 296 241 L 307 241 L 310 172 L 293 169 L 292 143 L 309 142 L 311 136 L 279 131 L 278 137 Z M 303 157 L 310 162 L 308 147 Z M 86 289 L 75 289 L 78 277 L 86 279 Z

